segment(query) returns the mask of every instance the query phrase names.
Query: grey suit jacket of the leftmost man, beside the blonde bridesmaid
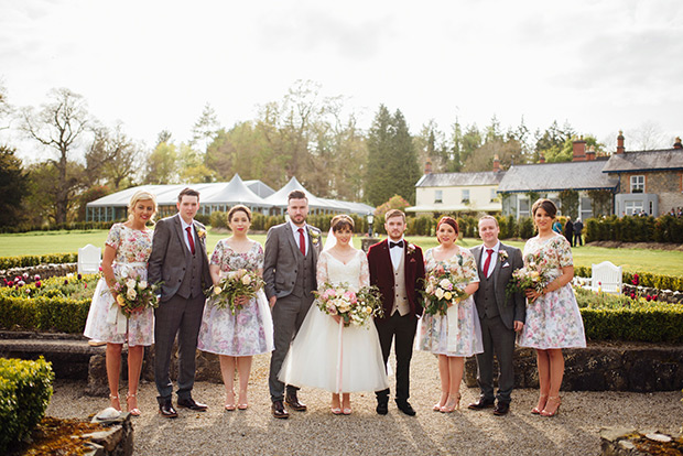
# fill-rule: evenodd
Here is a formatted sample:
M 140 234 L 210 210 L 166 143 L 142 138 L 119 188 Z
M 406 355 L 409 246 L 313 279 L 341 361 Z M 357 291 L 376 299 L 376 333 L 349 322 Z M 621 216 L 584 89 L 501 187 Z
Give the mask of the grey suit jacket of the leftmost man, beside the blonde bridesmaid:
M 195 231 L 206 227 L 194 221 Z M 185 234 L 181 224 L 181 216 L 176 214 L 161 219 L 154 226 L 152 239 L 152 253 L 148 263 L 148 281 L 150 283 L 163 282 L 161 285 L 161 301 L 169 301 L 181 287 L 187 263 L 191 259 L 189 250 L 185 245 Z M 206 256 L 205 238 L 195 234 L 195 249 L 202 252 L 202 290 L 212 285 L 212 274 L 208 271 L 208 257 Z M 196 251 L 196 250 L 195 250 Z

